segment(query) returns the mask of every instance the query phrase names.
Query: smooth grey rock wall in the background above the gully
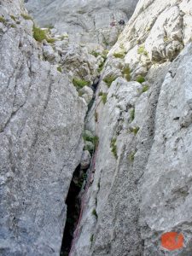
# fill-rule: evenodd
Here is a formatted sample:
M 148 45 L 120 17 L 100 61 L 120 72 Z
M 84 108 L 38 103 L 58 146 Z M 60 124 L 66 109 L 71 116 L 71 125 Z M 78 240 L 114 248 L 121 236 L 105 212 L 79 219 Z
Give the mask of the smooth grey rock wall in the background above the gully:
M 113 45 L 121 31 L 111 27 L 113 20 L 129 20 L 137 0 L 28 0 L 26 8 L 40 26 L 55 26 L 58 32 L 68 32 L 70 39 L 84 43 Z

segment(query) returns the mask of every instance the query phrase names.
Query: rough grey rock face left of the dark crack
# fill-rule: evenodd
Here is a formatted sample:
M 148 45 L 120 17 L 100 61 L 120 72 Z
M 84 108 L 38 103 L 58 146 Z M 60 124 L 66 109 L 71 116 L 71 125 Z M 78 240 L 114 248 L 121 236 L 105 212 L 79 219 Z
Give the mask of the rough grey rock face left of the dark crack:
M 0 4 L 0 254 L 59 255 L 87 108 L 42 61 L 20 1 Z

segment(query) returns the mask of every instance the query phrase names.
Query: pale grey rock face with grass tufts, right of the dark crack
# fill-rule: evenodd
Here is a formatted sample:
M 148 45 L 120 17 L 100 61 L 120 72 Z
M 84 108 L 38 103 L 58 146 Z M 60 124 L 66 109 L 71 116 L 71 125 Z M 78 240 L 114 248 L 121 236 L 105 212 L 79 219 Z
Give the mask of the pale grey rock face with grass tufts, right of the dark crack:
M 192 253 L 191 12 L 192 1 L 140 1 L 109 52 L 86 123 L 94 131 L 96 120 L 99 145 L 72 255 Z M 182 249 L 161 247 L 169 231 Z

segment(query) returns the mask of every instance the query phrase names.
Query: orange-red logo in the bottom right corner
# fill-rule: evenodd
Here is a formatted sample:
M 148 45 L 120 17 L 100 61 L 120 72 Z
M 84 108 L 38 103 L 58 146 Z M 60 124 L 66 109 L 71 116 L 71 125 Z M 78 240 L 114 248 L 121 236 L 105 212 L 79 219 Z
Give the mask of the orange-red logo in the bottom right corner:
M 161 236 L 161 246 L 169 251 L 174 251 L 183 247 L 184 237 L 177 232 L 167 232 Z

